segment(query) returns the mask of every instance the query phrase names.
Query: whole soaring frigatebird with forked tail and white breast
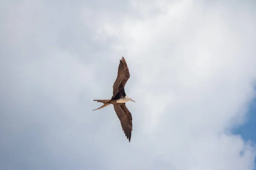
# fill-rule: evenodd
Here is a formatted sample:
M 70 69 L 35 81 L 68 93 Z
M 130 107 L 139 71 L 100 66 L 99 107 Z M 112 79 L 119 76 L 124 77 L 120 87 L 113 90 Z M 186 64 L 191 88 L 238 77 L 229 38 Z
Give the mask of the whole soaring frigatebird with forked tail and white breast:
M 124 131 L 126 138 L 130 142 L 131 131 L 132 131 L 132 116 L 131 116 L 131 112 L 125 106 L 125 102 L 128 102 L 128 101 L 135 102 L 135 101 L 132 100 L 131 97 L 125 94 L 125 84 L 129 78 L 130 78 L 129 69 L 125 61 L 125 58 L 122 57 L 122 59 L 120 59 L 120 62 L 119 62 L 116 81 L 113 84 L 112 98 L 103 99 L 103 100 L 93 100 L 97 102 L 102 102 L 104 104 L 100 108 L 94 109 L 93 111 L 96 111 L 101 108 L 105 108 L 106 106 L 112 104 L 114 106 L 114 110 L 116 111 L 116 115 L 120 120 L 122 130 Z

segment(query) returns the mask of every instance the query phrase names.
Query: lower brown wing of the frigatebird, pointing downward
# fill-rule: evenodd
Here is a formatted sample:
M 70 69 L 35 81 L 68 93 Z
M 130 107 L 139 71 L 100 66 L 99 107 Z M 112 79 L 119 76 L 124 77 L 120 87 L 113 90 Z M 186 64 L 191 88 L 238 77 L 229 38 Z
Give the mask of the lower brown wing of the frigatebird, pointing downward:
M 131 112 L 126 108 L 125 103 L 115 103 L 114 110 L 116 115 L 120 120 L 122 130 L 125 133 L 126 138 L 131 141 L 131 131 L 132 131 L 132 116 Z

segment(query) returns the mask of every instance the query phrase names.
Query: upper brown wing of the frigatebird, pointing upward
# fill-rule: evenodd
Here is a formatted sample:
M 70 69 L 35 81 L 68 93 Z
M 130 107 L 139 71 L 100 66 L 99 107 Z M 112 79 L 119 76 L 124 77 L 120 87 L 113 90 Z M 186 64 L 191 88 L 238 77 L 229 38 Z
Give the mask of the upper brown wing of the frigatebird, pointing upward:
M 122 59 L 120 59 L 120 63 L 118 66 L 116 81 L 113 84 L 112 99 L 116 96 L 116 94 L 118 94 L 118 92 L 125 94 L 124 87 L 129 78 L 130 78 L 129 69 L 125 61 L 125 58 L 122 57 Z

